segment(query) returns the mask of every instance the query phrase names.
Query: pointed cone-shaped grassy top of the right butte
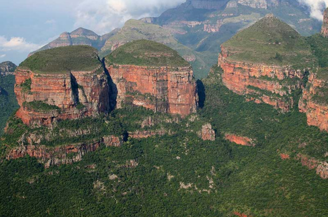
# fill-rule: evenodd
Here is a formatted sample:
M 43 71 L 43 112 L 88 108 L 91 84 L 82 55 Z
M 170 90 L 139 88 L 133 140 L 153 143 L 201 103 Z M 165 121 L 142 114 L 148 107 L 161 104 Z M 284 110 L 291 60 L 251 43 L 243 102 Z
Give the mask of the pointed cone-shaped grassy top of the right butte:
M 231 60 L 250 63 L 311 67 L 316 58 L 304 37 L 269 14 L 223 44 L 234 54 Z

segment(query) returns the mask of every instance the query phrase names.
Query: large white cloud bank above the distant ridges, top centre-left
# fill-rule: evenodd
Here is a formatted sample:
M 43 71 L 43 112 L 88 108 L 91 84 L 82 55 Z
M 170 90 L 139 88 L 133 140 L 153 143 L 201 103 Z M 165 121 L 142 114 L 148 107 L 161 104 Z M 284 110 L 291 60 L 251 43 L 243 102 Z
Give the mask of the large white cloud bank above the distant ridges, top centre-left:
M 186 0 L 83 0 L 74 11 L 75 28 L 90 28 L 104 34 L 122 26 L 128 19 L 157 16 L 183 2 Z

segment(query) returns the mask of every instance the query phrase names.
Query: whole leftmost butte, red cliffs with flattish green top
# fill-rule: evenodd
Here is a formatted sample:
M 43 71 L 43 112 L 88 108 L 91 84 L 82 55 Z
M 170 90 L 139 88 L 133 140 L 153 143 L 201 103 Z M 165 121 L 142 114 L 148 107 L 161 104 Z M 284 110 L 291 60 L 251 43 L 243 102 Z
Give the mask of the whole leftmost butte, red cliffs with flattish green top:
M 108 78 L 94 52 L 88 46 L 70 46 L 29 57 L 15 71 L 15 94 L 20 106 L 16 116 L 30 126 L 51 126 L 58 120 L 107 112 Z M 43 61 L 48 55 L 48 68 L 29 67 L 29 62 Z M 90 65 L 73 66 L 83 62 Z M 56 68 L 58 65 L 65 69 Z

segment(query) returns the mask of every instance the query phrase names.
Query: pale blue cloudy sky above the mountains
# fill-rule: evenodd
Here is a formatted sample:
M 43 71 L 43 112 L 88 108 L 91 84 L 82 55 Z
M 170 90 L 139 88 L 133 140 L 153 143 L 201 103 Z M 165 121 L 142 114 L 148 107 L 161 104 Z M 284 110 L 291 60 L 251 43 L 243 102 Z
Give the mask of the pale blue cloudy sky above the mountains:
M 322 19 L 328 0 L 298 0 Z M 186 0 L 0 0 L 0 62 L 19 64 L 28 53 L 78 27 L 105 34 L 128 19 L 158 16 Z

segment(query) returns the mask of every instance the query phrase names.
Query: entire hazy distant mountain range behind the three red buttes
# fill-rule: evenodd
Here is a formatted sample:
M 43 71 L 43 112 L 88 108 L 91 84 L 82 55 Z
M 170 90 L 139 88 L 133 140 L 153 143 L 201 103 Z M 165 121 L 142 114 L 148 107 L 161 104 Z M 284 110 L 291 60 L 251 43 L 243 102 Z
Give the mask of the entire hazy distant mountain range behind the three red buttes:
M 297 1 L 187 0 L 159 17 L 145 17 L 140 21 L 132 19 L 121 29 L 102 36 L 83 28 L 71 33 L 64 32 L 37 51 L 60 46 L 90 45 L 97 48 L 99 56 L 103 57 L 127 42 L 147 39 L 177 50 L 192 64 L 196 78 L 202 78 L 217 62 L 223 42 L 268 13 L 273 13 L 305 36 L 319 32 L 321 27 L 321 22 L 310 17 L 309 9 Z

